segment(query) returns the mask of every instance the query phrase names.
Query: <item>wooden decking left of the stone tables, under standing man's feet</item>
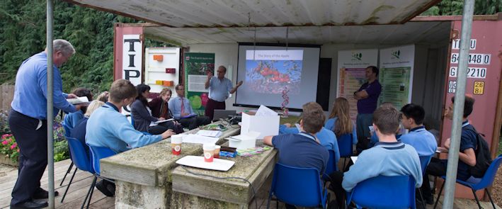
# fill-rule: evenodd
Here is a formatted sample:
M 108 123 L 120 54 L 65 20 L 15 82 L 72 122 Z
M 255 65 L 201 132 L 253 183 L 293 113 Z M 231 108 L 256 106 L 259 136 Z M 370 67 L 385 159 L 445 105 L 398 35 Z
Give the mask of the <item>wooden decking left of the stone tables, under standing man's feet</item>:
M 72 161 L 67 159 L 61 162 L 56 162 L 54 165 L 55 188 L 59 192 L 59 196 L 55 199 L 55 208 L 80 208 L 81 204 L 84 202 L 87 191 L 89 191 L 89 186 L 91 186 L 93 180 L 92 174 L 86 171 L 76 171 L 67 196 L 64 198 L 64 202 L 60 203 L 64 190 L 66 190 L 69 183 L 69 179 L 72 178 L 74 169 L 72 169 L 71 173 L 68 174 L 66 179 L 64 179 L 62 186 L 59 186 L 59 183 L 61 183 L 71 162 Z M 9 204 L 11 203 L 11 191 L 18 177 L 18 170 L 12 169 L 4 174 L 4 176 L 0 176 L 0 208 L 9 208 Z M 47 181 L 46 169 L 40 182 L 41 187 L 45 190 L 47 190 Z M 106 197 L 103 193 L 94 188 L 89 208 L 115 208 L 115 198 Z

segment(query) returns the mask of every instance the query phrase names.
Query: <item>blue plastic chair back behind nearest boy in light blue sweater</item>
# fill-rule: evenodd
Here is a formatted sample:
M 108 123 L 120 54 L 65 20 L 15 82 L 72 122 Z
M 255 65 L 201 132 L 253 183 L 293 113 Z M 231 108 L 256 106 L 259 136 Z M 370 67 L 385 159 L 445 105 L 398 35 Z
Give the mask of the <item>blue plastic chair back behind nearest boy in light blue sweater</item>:
M 365 208 L 415 208 L 415 179 L 411 176 L 376 176 L 361 181 L 347 193 L 350 201 Z

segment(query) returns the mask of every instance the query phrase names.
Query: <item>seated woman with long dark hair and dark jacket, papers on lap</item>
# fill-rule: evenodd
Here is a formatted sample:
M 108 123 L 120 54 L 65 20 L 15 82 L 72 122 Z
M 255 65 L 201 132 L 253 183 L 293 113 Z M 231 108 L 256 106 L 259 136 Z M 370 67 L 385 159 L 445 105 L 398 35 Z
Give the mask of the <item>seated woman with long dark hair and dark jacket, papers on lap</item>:
M 166 121 L 164 123 L 156 124 L 158 120 L 165 120 L 166 118 L 155 118 L 152 116 L 152 111 L 149 108 L 147 98 L 150 94 L 150 86 L 145 84 L 138 84 L 136 86 L 137 97 L 131 105 L 131 120 L 134 122 L 136 130 L 142 132 L 149 132 L 153 135 L 161 134 L 162 132 L 171 129 L 176 133 L 183 132 L 183 128 L 177 125 L 177 122 Z

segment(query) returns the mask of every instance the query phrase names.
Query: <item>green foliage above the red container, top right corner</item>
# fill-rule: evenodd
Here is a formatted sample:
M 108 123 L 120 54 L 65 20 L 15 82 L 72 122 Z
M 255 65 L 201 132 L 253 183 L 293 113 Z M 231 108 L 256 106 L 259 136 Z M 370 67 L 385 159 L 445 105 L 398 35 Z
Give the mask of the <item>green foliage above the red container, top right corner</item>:
M 443 0 L 424 11 L 423 16 L 461 16 L 464 0 Z M 474 1 L 475 15 L 489 15 L 502 12 L 502 0 Z

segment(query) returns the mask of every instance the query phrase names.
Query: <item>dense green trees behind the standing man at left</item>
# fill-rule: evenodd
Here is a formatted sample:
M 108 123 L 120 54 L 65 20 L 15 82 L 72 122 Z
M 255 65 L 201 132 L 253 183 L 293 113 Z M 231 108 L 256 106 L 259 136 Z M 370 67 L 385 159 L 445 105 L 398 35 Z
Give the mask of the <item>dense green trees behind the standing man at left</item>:
M 46 1 L 0 1 L 0 84 L 16 79 L 19 65 L 45 48 Z M 76 53 L 61 68 L 63 89 L 76 86 L 95 93 L 113 81 L 113 24 L 135 23 L 131 18 L 54 2 L 54 38 L 68 40 Z

